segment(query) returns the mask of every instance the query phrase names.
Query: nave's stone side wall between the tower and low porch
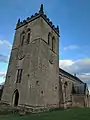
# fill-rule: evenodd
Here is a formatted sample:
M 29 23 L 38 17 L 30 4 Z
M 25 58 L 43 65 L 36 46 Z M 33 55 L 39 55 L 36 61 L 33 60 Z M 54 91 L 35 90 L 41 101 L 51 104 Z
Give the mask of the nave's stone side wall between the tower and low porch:
M 60 96 L 62 97 L 60 101 L 60 106 L 67 108 L 72 106 L 72 84 L 79 84 L 76 80 L 72 78 L 60 76 Z

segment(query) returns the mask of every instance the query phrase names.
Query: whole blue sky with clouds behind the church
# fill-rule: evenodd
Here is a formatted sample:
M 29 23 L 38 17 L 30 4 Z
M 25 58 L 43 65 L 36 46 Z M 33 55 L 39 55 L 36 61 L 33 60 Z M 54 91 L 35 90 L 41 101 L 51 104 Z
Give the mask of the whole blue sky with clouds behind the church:
M 40 4 L 59 25 L 59 67 L 76 74 L 90 89 L 90 0 L 1 0 L 0 83 L 5 81 L 18 18 L 30 17 Z

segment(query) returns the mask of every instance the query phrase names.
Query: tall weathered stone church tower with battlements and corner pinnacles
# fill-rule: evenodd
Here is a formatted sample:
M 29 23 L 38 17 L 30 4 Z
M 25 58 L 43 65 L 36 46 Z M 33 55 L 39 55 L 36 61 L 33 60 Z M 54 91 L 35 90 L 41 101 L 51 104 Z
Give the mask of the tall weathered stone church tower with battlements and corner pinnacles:
M 59 28 L 43 11 L 18 20 L 2 102 L 11 106 L 59 106 Z

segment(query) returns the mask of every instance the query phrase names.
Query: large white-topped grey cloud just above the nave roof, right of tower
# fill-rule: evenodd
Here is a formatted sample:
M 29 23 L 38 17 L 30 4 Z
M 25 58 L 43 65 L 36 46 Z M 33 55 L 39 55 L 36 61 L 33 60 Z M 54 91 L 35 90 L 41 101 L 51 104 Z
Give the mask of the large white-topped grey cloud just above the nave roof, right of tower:
M 89 73 L 90 71 L 90 58 L 80 60 L 60 60 L 59 67 L 71 73 Z

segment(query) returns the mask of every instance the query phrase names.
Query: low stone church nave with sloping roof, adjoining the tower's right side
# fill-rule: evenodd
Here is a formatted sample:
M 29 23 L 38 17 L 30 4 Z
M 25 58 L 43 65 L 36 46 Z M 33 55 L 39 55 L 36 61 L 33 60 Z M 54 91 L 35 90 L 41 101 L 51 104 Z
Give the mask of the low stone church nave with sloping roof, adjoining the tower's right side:
M 86 83 L 81 81 L 76 76 L 73 76 L 66 71 L 59 69 L 59 80 L 62 86 L 62 101 L 61 106 L 67 107 L 89 107 L 89 93 Z M 65 85 L 65 83 L 67 83 Z M 81 93 L 73 93 L 73 85 L 83 85 Z

